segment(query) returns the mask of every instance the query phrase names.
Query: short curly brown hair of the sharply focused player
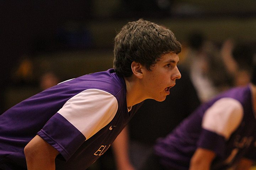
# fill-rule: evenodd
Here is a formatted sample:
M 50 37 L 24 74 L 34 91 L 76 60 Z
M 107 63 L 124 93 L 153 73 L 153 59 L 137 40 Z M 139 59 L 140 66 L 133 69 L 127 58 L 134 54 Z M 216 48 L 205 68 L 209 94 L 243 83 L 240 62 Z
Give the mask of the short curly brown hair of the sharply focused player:
M 162 55 L 170 52 L 181 52 L 181 44 L 174 33 L 163 26 L 139 19 L 128 22 L 116 35 L 113 67 L 117 75 L 130 77 L 133 61 L 151 70 Z

